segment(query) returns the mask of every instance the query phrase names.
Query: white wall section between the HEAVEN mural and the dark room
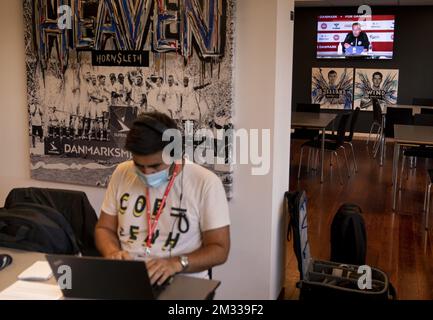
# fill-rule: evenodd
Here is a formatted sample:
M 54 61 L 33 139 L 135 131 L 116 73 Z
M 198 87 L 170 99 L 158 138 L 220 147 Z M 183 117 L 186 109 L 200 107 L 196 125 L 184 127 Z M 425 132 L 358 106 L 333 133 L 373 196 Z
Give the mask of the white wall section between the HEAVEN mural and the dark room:
M 238 166 L 231 202 L 232 249 L 216 272 L 228 299 L 275 299 L 284 276 L 282 200 L 289 180 L 293 22 L 289 0 L 238 0 L 237 128 L 272 129 L 269 175 Z

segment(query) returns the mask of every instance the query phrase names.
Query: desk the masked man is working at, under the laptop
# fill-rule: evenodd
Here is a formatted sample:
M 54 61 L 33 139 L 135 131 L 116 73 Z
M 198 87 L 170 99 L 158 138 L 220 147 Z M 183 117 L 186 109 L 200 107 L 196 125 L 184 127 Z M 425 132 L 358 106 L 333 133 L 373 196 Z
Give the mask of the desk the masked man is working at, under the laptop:
M 36 261 L 45 261 L 45 254 L 0 248 L 0 254 L 9 254 L 13 258 L 11 265 L 0 271 L 0 291 L 3 291 L 16 280 L 18 275 Z M 55 278 L 46 283 L 56 284 Z M 165 289 L 158 300 L 206 300 L 221 283 L 214 280 L 197 279 L 187 276 L 175 276 L 173 283 Z

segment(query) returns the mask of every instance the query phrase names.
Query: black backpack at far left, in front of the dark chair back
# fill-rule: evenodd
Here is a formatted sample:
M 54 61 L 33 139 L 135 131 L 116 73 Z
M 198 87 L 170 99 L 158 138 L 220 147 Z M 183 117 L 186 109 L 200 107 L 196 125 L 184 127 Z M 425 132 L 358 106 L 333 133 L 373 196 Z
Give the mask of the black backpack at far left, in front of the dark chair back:
M 55 209 L 18 203 L 0 209 L 0 246 L 49 254 L 79 254 L 74 233 Z

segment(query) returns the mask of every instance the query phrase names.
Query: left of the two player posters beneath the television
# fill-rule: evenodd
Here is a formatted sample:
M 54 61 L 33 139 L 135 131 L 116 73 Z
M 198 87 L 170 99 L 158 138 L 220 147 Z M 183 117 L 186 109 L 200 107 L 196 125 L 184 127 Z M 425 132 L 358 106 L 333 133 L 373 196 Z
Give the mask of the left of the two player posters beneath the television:
M 322 109 L 351 110 L 353 105 L 353 69 L 313 68 L 311 102 Z

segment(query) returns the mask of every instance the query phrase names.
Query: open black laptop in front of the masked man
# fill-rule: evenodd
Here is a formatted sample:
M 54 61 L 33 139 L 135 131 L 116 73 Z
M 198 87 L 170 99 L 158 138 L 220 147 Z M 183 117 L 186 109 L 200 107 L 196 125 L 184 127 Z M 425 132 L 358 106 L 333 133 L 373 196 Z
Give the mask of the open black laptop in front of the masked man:
M 58 283 L 65 283 L 65 268 L 70 267 L 71 289 L 63 289 L 66 299 L 154 300 L 164 291 L 152 286 L 143 261 L 46 255 Z

